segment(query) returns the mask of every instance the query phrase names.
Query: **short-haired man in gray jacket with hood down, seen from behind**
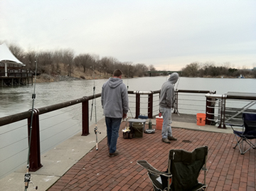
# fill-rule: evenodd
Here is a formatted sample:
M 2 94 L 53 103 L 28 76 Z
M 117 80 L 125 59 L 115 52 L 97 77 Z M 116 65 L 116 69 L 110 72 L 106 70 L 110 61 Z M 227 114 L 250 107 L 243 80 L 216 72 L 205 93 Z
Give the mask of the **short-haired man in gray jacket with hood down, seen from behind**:
M 122 71 L 117 69 L 102 86 L 101 104 L 107 126 L 107 146 L 110 148 L 109 156 L 119 154 L 117 151 L 117 138 L 122 119 L 127 118 L 129 110 L 128 92 L 121 80 Z

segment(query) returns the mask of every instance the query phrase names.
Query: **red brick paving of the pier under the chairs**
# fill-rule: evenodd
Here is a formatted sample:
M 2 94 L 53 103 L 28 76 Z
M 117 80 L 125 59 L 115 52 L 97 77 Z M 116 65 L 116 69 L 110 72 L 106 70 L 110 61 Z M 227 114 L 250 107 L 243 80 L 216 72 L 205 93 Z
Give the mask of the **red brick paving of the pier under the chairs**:
M 99 143 L 98 151 L 93 148 L 49 190 L 153 190 L 146 170 L 137 164 L 137 160 L 147 160 L 154 168 L 166 170 L 170 149 L 192 151 L 198 146 L 209 148 L 208 191 L 256 190 L 255 150 L 240 155 L 238 148 L 233 149 L 233 134 L 173 129 L 178 141 L 166 144 L 161 142 L 159 130 L 154 134 L 144 133 L 143 138 L 124 139 L 121 131 L 124 126 L 123 122 L 117 142 L 120 155 L 108 157 L 107 138 L 104 138 Z M 203 172 L 198 180 L 203 182 Z

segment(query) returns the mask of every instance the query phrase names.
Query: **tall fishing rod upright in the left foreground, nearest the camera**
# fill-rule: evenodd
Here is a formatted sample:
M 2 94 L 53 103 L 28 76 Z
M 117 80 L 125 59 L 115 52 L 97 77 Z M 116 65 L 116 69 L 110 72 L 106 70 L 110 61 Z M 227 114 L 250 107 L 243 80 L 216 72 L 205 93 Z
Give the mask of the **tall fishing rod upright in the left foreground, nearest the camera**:
M 36 65 L 36 70 L 35 70 L 35 83 L 33 87 L 33 94 L 32 94 L 32 109 L 31 109 L 31 123 L 29 125 L 29 141 L 28 141 L 28 160 L 27 160 L 27 165 L 26 165 L 26 174 L 24 176 L 24 182 L 25 182 L 25 191 L 28 189 L 28 184 L 32 183 L 34 186 L 33 182 L 30 180 L 31 179 L 31 174 L 29 173 L 29 155 L 30 155 L 30 149 L 31 149 L 31 135 L 32 135 L 32 123 L 33 123 L 33 109 L 34 109 L 34 103 L 36 99 L 36 71 L 37 71 L 37 58 L 35 61 Z M 34 189 L 38 189 L 38 186 L 34 186 Z

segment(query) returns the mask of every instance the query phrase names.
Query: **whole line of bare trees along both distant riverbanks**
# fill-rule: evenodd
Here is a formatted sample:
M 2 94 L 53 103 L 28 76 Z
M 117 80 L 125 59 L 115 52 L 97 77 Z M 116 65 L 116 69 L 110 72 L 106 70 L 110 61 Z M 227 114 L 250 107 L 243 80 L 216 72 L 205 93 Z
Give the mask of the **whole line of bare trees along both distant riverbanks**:
M 9 45 L 9 49 L 18 60 L 26 64 L 26 69 L 28 70 L 35 70 L 34 61 L 37 60 L 38 74 L 60 75 L 68 73 L 71 76 L 74 68 L 79 67 L 82 72 L 89 71 L 91 75 L 94 70 L 105 75 L 112 75 L 112 72 L 117 68 L 122 70 L 124 77 L 149 76 L 149 73 L 146 73 L 147 71 L 152 71 L 151 76 L 168 75 L 167 73 L 156 73 L 157 70 L 154 65 L 146 66 L 144 63 L 120 62 L 114 57 L 100 58 L 100 55 L 89 53 L 75 55 L 71 49 L 41 52 L 31 50 L 25 52 L 15 44 Z M 60 67 L 60 64 L 63 64 L 64 68 Z M 192 62 L 183 67 L 181 72 L 183 77 L 238 77 L 242 75 L 244 77 L 256 78 L 256 68 L 252 70 L 239 70 L 230 67 L 228 62 L 219 67 L 216 67 L 213 62 L 206 62 L 204 64 Z

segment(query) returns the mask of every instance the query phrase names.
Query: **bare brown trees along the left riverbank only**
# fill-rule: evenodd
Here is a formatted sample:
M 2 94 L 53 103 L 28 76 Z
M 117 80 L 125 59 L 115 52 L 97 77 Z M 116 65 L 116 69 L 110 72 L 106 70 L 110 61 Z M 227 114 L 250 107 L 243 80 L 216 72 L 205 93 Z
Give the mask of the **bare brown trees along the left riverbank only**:
M 68 73 L 69 76 L 72 76 L 75 67 L 80 67 L 80 70 L 84 73 L 89 71 L 91 75 L 94 70 L 105 75 L 112 75 L 112 72 L 118 68 L 122 70 L 125 77 L 144 77 L 148 75 L 147 71 L 156 71 L 154 65 L 146 66 L 144 63 L 120 62 L 114 57 L 100 58 L 99 55 L 89 53 L 75 55 L 71 49 L 25 52 L 18 45 L 11 44 L 9 50 L 18 60 L 26 64 L 25 68 L 28 70 L 35 70 L 34 61 L 37 60 L 38 74 L 58 75 Z M 60 64 L 63 64 L 64 68 L 60 67 Z

